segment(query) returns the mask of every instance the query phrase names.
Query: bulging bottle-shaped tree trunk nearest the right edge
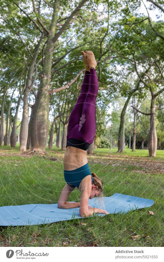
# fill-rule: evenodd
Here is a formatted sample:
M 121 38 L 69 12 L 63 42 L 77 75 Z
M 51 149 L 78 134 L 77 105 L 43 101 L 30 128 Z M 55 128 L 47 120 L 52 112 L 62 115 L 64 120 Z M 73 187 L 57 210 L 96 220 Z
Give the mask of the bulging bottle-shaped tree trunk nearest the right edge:
M 157 151 L 157 133 L 155 127 L 155 98 L 151 99 L 151 107 L 150 107 L 150 130 L 149 130 L 149 141 L 148 141 L 148 149 L 149 156 L 156 156 Z

